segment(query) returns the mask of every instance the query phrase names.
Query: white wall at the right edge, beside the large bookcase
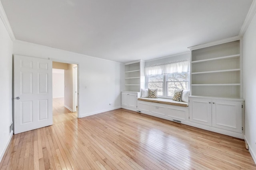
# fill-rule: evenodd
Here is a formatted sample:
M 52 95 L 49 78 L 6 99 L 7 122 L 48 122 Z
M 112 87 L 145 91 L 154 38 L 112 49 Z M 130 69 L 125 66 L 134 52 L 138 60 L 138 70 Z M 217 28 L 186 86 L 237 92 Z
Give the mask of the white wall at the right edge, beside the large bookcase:
M 256 14 L 243 37 L 245 139 L 256 162 Z

